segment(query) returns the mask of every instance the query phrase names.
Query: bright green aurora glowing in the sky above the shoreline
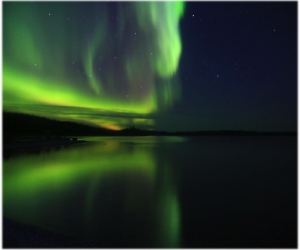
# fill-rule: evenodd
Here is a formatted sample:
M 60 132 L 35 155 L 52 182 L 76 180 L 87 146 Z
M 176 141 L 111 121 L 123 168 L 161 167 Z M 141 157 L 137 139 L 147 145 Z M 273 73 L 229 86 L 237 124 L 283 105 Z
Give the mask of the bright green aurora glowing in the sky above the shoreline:
M 3 109 L 148 129 L 180 99 L 183 2 L 4 2 Z

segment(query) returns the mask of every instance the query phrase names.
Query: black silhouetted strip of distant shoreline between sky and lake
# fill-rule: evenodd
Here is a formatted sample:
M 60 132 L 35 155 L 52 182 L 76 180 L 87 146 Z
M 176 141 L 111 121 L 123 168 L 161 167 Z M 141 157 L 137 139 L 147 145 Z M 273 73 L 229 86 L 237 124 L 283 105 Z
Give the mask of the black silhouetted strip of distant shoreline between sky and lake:
M 70 121 L 58 121 L 45 117 L 22 113 L 3 112 L 3 135 L 49 135 L 49 136 L 203 136 L 203 135 L 279 135 L 296 136 L 296 132 L 258 132 L 242 130 L 219 131 L 151 131 L 130 127 L 123 130 L 109 130 L 100 127 L 88 126 Z

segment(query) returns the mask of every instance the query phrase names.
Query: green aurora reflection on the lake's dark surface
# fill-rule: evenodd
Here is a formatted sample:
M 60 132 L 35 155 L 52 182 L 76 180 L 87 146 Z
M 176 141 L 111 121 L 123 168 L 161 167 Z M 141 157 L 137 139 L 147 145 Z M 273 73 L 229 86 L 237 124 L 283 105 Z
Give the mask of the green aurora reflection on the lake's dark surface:
M 111 139 L 3 162 L 4 216 L 99 247 L 179 247 L 180 205 L 156 137 Z

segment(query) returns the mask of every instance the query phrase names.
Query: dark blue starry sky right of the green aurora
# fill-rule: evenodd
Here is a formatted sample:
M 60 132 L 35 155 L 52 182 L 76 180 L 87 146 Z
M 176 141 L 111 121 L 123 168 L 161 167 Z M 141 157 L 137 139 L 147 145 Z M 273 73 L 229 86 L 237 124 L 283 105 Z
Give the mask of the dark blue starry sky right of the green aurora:
M 188 2 L 174 130 L 297 129 L 297 2 Z

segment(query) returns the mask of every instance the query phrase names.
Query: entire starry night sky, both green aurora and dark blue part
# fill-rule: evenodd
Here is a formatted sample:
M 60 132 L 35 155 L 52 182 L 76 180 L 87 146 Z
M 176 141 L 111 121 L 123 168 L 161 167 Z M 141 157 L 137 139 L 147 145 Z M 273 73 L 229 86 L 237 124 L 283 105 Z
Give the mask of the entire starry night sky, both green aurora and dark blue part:
M 4 2 L 3 109 L 296 131 L 297 2 Z

